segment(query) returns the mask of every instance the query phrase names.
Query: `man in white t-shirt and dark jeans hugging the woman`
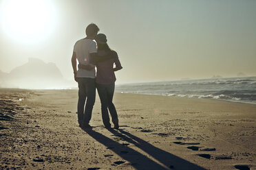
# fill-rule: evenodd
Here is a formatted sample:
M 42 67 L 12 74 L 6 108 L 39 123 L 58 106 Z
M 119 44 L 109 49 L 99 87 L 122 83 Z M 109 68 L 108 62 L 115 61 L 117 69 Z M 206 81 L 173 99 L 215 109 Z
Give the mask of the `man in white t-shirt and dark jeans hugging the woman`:
M 96 95 L 96 71 L 94 63 L 114 58 L 110 53 L 107 53 L 105 56 L 97 55 L 96 42 L 94 41 L 94 38 L 98 34 L 99 30 L 100 29 L 96 24 L 89 24 L 85 30 L 86 37 L 76 42 L 72 55 L 74 80 L 78 82 L 79 88 L 77 106 L 78 123 L 82 128 L 92 128 L 89 125 L 89 121 L 92 118 L 92 109 L 94 107 Z M 77 71 L 76 60 L 78 60 L 79 64 L 83 64 L 85 68 L 78 69 Z

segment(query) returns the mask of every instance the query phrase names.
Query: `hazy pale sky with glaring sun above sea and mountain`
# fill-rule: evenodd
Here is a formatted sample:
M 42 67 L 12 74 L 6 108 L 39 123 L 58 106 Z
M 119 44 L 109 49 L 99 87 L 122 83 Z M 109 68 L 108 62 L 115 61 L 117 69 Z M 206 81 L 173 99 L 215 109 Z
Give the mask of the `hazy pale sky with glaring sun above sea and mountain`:
M 124 68 L 117 83 L 256 75 L 255 0 L 8 1 L 0 0 L 4 72 L 33 57 L 72 80 L 74 43 L 96 23 Z

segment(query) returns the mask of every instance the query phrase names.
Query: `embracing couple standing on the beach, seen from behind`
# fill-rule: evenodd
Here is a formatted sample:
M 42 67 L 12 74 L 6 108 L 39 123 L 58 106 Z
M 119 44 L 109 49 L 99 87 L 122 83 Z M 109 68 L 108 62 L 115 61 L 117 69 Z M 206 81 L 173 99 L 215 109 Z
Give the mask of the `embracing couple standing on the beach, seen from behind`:
M 92 128 L 89 121 L 92 118 L 97 88 L 105 127 L 111 128 L 110 112 L 114 128 L 118 129 L 118 115 L 112 99 L 116 82 L 114 71 L 122 69 L 122 66 L 116 51 L 109 48 L 105 34 L 98 34 L 99 30 L 94 23 L 89 24 L 85 30 L 86 37 L 78 40 L 74 45 L 72 67 L 74 80 L 78 82 L 79 88 L 78 123 L 82 128 Z M 78 70 L 76 60 L 78 60 Z M 113 67 L 114 63 L 115 68 Z

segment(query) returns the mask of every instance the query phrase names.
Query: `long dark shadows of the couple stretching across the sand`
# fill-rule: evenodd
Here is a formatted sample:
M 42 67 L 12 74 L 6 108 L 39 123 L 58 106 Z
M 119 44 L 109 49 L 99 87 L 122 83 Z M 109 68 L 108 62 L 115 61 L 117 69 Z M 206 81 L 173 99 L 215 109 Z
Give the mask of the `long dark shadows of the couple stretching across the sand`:
M 85 129 L 85 132 L 92 136 L 96 141 L 105 145 L 108 149 L 114 151 L 118 156 L 130 162 L 129 165 L 133 166 L 135 169 L 178 169 L 178 170 L 205 170 L 204 168 L 195 165 L 187 160 L 179 158 L 167 151 L 154 147 L 147 141 L 138 138 L 125 132 L 124 130 L 111 130 L 109 132 L 121 138 L 122 141 L 127 141 L 128 143 L 134 144 L 136 147 L 145 151 L 154 160 L 148 158 L 147 156 L 140 154 L 140 152 L 128 147 L 127 145 L 120 144 L 103 134 L 100 134 L 92 129 Z M 116 160 L 118 161 L 118 160 Z

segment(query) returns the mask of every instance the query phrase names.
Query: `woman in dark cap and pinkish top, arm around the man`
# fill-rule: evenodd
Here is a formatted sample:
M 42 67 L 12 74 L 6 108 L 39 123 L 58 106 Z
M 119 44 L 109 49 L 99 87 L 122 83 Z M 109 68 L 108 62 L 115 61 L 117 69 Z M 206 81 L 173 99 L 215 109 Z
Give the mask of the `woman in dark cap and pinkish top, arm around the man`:
M 103 123 L 106 128 L 110 128 L 109 112 L 111 114 L 114 128 L 118 129 L 118 115 L 116 108 L 113 104 L 113 95 L 115 90 L 116 75 L 114 71 L 122 69 L 118 54 L 116 51 L 111 50 L 107 45 L 107 37 L 105 34 L 98 34 L 95 38 L 97 42 L 98 56 L 106 56 L 110 54 L 112 58 L 96 62 L 97 73 L 96 73 L 96 88 L 101 102 L 101 114 L 103 117 Z M 116 65 L 114 67 L 114 64 Z M 80 66 L 83 68 L 83 66 Z M 109 110 L 109 112 L 108 112 Z

